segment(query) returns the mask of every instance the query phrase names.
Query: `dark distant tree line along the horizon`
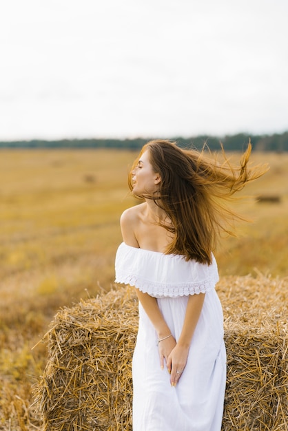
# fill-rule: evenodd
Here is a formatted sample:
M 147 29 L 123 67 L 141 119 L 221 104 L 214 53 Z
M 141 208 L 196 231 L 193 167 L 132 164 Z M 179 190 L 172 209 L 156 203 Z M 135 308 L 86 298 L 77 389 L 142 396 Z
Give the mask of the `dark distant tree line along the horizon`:
M 109 138 L 91 138 L 91 139 L 62 139 L 62 140 L 14 140 L 0 142 L 1 148 L 28 148 L 28 149 L 93 149 L 93 148 L 118 148 L 118 149 L 140 149 L 151 138 L 133 138 L 133 139 L 109 139 Z M 181 147 L 194 147 L 202 149 L 207 145 L 212 151 L 220 149 L 223 144 L 225 151 L 243 151 L 249 140 L 253 149 L 256 151 L 288 151 L 288 132 L 271 135 L 251 135 L 235 134 L 226 135 L 223 138 L 209 135 L 194 136 L 191 138 L 174 137 Z

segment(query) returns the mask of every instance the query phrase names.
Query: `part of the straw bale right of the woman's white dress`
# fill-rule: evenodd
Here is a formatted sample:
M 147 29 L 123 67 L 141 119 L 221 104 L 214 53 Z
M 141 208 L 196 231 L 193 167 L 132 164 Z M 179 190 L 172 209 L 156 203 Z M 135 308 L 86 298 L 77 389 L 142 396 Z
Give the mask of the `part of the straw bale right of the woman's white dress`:
M 223 431 L 288 430 L 287 279 L 225 277 Z

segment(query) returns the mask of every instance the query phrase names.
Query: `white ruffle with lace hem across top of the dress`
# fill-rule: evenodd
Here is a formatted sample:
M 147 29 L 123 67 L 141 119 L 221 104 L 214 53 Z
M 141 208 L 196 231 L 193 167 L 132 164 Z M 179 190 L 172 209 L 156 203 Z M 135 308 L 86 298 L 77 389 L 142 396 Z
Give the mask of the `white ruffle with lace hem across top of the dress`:
M 199 264 L 182 255 L 136 249 L 124 242 L 116 253 L 115 271 L 116 283 L 130 284 L 153 297 L 205 293 L 218 282 L 214 256 L 211 265 Z

